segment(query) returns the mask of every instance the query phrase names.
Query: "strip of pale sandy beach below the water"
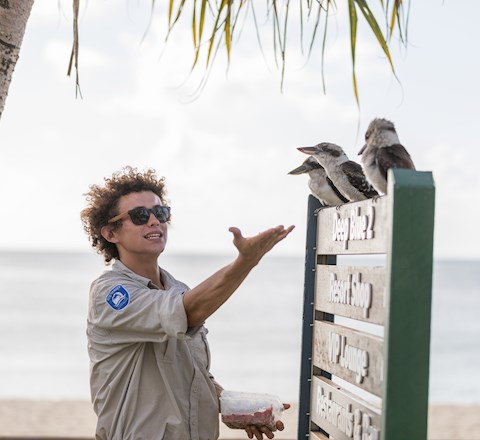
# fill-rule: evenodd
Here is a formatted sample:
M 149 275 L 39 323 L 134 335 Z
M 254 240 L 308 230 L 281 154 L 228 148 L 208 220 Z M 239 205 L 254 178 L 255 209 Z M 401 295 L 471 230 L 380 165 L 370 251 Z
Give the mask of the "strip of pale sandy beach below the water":
M 296 438 L 298 406 L 283 415 L 285 430 L 279 440 Z M 243 431 L 220 424 L 220 438 L 247 438 Z M 76 438 L 93 439 L 95 414 L 85 401 L 0 401 L 0 439 Z M 431 405 L 428 423 L 429 440 L 480 440 L 479 405 Z

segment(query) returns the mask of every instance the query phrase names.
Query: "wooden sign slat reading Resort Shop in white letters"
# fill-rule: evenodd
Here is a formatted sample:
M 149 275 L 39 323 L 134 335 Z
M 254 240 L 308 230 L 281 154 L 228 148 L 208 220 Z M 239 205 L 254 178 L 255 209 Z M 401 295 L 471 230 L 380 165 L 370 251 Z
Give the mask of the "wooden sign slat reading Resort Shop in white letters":
M 384 267 L 317 266 L 315 308 L 383 324 L 385 277 Z

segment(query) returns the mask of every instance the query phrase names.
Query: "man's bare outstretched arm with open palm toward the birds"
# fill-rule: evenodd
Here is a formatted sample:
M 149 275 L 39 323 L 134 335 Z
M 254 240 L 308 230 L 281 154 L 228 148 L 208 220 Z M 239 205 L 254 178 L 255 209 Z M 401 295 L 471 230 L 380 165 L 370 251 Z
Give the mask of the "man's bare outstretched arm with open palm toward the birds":
M 230 228 L 233 244 L 238 249 L 237 258 L 183 295 L 189 327 L 205 322 L 237 290 L 250 271 L 294 226 L 277 226 L 254 237 L 243 237 L 238 228 Z

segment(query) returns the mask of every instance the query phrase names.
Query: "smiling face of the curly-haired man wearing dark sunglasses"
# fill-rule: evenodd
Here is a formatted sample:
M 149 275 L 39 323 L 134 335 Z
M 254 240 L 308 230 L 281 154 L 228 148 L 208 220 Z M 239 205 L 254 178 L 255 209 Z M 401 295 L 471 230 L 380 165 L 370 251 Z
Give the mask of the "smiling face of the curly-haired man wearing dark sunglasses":
M 121 214 L 133 208 L 152 208 L 161 204 L 160 198 L 151 191 L 130 193 L 119 199 L 117 212 Z M 144 225 L 135 225 L 128 215 L 121 222 L 120 227 L 108 237 L 117 246 L 120 260 L 148 256 L 156 258 L 164 251 L 167 223 L 160 223 L 152 213 Z

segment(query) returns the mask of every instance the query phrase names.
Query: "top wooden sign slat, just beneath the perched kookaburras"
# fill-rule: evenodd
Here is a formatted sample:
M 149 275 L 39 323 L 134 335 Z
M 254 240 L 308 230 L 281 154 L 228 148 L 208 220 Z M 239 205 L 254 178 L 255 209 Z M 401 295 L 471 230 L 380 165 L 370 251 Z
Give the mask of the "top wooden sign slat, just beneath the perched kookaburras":
M 385 254 L 387 196 L 324 208 L 318 212 L 321 255 Z

